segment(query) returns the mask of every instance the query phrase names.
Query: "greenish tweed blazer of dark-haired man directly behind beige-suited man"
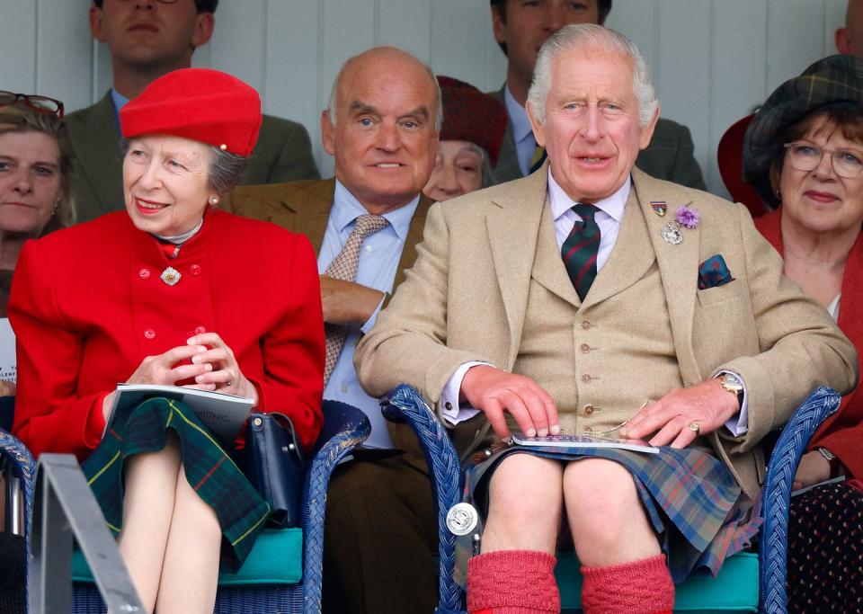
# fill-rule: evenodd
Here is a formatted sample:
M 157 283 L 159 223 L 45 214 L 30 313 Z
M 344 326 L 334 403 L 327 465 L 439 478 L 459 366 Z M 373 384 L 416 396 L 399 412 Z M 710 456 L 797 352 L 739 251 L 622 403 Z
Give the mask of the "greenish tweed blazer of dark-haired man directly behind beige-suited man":
M 488 94 L 506 106 L 503 87 Z M 692 144 L 690 129 L 676 121 L 659 118 L 650 144 L 638 153 L 636 166 L 659 179 L 697 190 L 707 190 L 704 177 L 701 176 L 701 167 L 695 159 L 695 146 Z M 497 184 L 520 179 L 521 176 L 512 123 L 507 120 L 501 153 L 497 165 L 492 169 L 492 178 Z

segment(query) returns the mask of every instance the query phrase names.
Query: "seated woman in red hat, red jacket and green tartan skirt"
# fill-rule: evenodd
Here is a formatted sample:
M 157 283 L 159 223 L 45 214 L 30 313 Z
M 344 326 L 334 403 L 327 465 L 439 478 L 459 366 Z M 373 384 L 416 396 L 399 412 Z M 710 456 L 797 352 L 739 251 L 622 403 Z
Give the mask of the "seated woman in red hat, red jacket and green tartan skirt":
M 288 414 L 309 446 L 324 370 L 315 254 L 303 236 L 213 208 L 257 138 L 251 87 L 178 70 L 120 124 L 126 212 L 22 250 L 9 302 L 14 432 L 34 454 L 83 461 L 148 611 L 211 612 L 220 555 L 242 563 L 269 508 L 182 404 L 151 399 L 106 431 L 113 390 L 247 396 L 256 411 Z

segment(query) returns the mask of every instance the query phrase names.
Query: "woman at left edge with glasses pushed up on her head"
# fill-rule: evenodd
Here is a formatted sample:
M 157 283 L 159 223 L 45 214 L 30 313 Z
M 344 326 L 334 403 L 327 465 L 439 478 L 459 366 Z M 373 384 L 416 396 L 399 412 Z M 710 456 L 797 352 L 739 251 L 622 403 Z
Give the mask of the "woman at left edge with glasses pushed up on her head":
M 24 242 L 75 219 L 62 117 L 62 102 L 0 91 L 0 326 Z M 0 365 L 0 396 L 15 394 L 7 377 Z

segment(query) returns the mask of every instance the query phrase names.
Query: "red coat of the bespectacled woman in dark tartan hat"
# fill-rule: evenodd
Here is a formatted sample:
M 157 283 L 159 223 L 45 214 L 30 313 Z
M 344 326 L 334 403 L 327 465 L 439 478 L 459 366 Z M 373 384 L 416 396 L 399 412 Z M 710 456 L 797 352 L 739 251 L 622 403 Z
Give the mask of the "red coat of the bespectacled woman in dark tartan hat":
M 761 231 L 779 254 L 782 254 L 782 209 L 755 219 Z M 842 298 L 837 323 L 854 347 L 858 361 L 863 358 L 863 234 L 851 247 L 845 274 L 842 276 Z M 858 367 L 861 365 L 859 364 Z M 842 405 L 815 432 L 809 449 L 824 447 L 838 456 L 854 477 L 863 477 L 863 391 L 856 387 L 842 397 Z

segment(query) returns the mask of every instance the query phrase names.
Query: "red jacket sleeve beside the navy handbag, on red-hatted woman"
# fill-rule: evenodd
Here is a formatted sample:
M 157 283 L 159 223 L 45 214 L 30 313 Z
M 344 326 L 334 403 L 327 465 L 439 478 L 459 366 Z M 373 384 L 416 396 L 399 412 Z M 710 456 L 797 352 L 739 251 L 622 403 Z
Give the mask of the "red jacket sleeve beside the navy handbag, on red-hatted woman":
M 324 315 L 315 252 L 297 235 L 282 255 L 286 275 L 280 322 L 262 336 L 263 378 L 250 378 L 258 390 L 258 410 L 289 415 L 308 449 L 324 422 Z

